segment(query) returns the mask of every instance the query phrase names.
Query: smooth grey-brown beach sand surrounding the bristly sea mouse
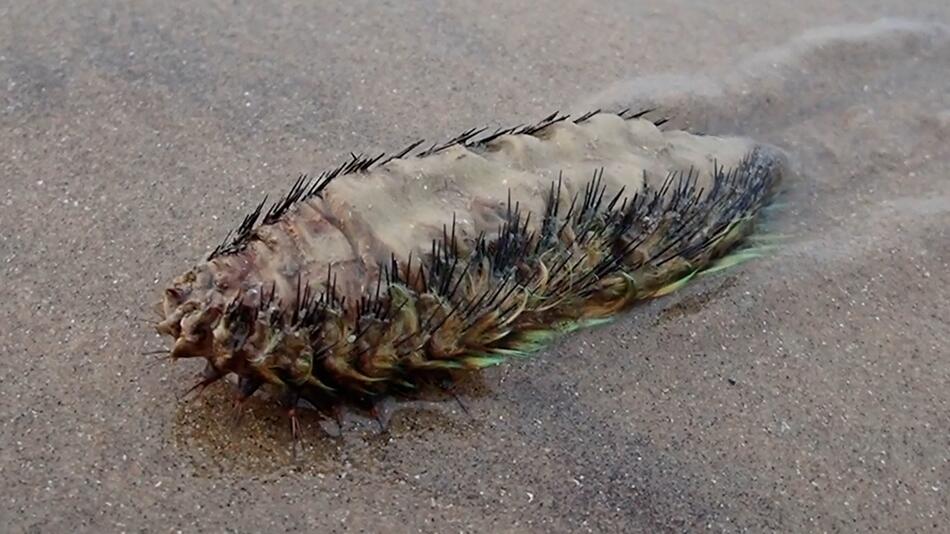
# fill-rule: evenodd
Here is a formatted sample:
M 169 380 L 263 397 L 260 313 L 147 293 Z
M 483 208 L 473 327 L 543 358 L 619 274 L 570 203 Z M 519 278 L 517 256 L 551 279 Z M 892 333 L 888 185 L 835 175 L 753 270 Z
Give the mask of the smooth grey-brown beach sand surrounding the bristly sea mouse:
M 0 530 L 947 528 L 945 1 L 136 4 L 0 6 Z M 648 104 L 789 152 L 774 257 L 296 464 L 145 368 L 161 284 L 296 173 Z

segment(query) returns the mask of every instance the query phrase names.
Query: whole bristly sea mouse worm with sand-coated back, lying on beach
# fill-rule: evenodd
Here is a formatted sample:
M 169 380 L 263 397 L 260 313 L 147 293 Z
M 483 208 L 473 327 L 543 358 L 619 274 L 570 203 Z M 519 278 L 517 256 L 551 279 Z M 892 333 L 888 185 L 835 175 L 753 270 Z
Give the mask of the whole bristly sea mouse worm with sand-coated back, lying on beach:
M 315 405 L 411 395 L 722 265 L 785 167 L 643 114 L 557 114 L 353 155 L 261 203 L 165 290 L 170 357 Z M 719 260 L 719 263 L 717 263 Z

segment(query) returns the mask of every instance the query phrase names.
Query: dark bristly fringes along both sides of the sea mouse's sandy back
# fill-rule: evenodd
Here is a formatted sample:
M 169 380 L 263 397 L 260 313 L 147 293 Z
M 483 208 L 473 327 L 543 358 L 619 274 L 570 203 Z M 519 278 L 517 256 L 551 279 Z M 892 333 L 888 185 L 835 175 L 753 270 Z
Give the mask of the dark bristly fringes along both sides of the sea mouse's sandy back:
M 568 118 L 555 113 L 481 138 L 483 129 L 467 130 L 419 157 L 506 134 L 537 134 Z M 300 177 L 266 211 L 266 200 L 257 205 L 211 258 L 244 250 L 258 223 L 275 224 L 335 178 L 385 164 L 384 157 L 353 154 L 316 178 Z M 427 254 L 406 261 L 392 256 L 359 298 L 341 295 L 329 269 L 322 280 L 298 276 L 289 299 L 277 296 L 276 282 L 241 289 L 223 308 L 192 313 L 190 336 L 167 324 L 160 331 L 176 337 L 172 357 L 208 360 L 196 387 L 235 373 L 240 399 L 270 385 L 291 409 L 300 400 L 372 407 L 391 395 L 412 395 L 446 373 L 532 354 L 558 334 L 609 319 L 732 263 L 727 253 L 752 231 L 775 189 L 776 165 L 771 154 L 754 149 L 734 168 L 714 165 L 707 190 L 697 186 L 700 171 L 689 169 L 671 172 L 659 187 L 644 180 L 639 190 L 610 196 L 598 169 L 569 204 L 559 176 L 542 213 L 523 210 L 509 191 L 502 224 L 490 237 L 460 237 L 452 217 Z M 529 224 L 532 219 L 539 224 Z

